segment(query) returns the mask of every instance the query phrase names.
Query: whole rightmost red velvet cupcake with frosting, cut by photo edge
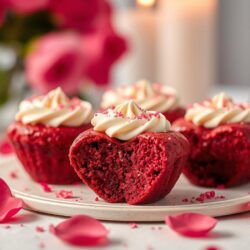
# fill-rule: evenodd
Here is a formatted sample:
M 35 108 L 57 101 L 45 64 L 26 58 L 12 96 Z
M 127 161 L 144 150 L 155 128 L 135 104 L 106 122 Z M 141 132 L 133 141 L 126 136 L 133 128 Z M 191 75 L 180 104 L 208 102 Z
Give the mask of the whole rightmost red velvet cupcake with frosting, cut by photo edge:
M 250 105 L 221 93 L 192 105 L 173 124 L 189 140 L 184 174 L 195 185 L 231 187 L 250 181 Z

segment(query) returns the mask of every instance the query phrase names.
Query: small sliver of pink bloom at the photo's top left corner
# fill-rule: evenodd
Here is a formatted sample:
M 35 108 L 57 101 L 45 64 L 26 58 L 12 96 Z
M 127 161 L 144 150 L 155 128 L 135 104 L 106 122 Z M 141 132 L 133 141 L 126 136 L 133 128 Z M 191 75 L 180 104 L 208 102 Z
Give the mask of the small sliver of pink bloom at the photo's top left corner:
M 5 0 L 8 7 L 19 14 L 30 14 L 48 7 L 50 0 Z

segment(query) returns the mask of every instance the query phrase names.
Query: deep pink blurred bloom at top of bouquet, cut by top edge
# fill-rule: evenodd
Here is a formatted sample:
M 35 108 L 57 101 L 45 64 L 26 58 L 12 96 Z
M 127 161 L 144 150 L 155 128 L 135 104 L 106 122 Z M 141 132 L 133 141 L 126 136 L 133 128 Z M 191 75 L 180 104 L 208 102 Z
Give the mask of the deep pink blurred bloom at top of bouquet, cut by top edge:
M 51 0 L 50 9 L 59 26 L 80 32 L 95 30 L 102 17 L 111 13 L 105 0 Z

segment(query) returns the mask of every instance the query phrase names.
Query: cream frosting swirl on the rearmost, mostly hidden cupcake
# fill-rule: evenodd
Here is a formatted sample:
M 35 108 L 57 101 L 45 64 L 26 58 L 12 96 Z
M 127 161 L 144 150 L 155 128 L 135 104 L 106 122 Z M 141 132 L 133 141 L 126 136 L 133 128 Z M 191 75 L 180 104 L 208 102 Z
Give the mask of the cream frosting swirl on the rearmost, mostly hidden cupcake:
M 101 107 L 106 109 L 133 99 L 143 109 L 157 112 L 173 111 L 180 106 L 176 91 L 158 83 L 141 80 L 103 94 Z

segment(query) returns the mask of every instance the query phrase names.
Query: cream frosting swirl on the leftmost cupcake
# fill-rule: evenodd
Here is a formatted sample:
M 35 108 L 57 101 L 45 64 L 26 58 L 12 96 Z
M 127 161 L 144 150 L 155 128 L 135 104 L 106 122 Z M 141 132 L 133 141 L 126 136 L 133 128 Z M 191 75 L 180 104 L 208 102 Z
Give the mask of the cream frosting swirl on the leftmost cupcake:
M 21 102 L 16 121 L 23 124 L 43 124 L 50 127 L 78 127 L 90 123 L 92 105 L 78 98 L 69 99 L 61 88 Z

